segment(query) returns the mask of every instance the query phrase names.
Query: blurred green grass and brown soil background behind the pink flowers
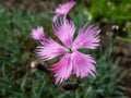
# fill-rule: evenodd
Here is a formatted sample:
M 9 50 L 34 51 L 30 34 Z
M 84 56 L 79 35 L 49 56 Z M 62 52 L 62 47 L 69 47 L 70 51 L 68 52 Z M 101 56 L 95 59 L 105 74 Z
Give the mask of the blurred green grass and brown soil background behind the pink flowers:
M 67 1 L 0 0 L 0 98 L 131 98 L 131 0 L 78 0 L 69 14 L 78 29 L 85 23 L 102 29 L 100 47 L 83 50 L 97 61 L 96 78 L 80 79 L 78 89 L 64 90 L 62 85 L 76 78 L 56 86 L 52 76 L 31 69 L 34 60 L 46 66 L 57 61 L 35 56 L 31 30 L 44 26 L 46 35 L 56 38 L 52 11 Z M 114 40 L 112 25 L 119 26 Z

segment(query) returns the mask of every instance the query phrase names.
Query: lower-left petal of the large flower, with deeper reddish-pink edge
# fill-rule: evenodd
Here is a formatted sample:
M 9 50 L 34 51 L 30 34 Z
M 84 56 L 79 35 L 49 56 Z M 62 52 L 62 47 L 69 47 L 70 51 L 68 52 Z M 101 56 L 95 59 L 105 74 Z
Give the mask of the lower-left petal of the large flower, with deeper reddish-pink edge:
M 56 84 L 67 81 L 72 73 L 71 54 L 64 54 L 59 62 L 51 66 L 51 71 L 55 73 Z

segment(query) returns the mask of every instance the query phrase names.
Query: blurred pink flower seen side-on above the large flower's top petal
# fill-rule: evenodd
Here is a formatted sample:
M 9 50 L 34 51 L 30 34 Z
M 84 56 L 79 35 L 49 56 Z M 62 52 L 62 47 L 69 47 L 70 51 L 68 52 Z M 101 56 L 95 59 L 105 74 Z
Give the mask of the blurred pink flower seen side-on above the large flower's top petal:
M 53 16 L 53 22 L 58 19 L 59 15 L 64 15 L 67 17 L 69 11 L 74 7 L 76 2 L 75 1 L 70 1 L 64 4 L 59 4 L 59 8 L 55 10 L 56 15 Z

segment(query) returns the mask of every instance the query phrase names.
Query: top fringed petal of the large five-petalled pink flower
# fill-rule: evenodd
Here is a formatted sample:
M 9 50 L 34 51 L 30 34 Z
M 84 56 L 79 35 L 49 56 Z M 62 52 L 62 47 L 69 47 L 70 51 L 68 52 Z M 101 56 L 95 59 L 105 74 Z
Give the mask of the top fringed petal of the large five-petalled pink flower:
M 62 44 L 71 48 L 72 39 L 75 32 L 75 25 L 72 21 L 57 20 L 53 24 L 55 35 L 62 41 Z

